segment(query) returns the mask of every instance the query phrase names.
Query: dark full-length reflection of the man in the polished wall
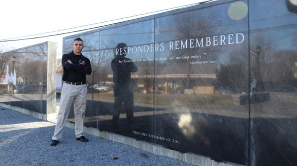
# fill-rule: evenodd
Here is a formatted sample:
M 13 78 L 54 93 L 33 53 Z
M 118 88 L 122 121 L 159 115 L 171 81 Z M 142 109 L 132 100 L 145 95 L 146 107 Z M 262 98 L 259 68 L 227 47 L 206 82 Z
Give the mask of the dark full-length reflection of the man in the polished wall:
M 116 47 L 115 58 L 111 61 L 114 82 L 114 108 L 112 125 L 116 132 L 119 131 L 119 115 L 122 103 L 127 115 L 129 125 L 133 124 L 134 94 L 131 84 L 131 72 L 137 71 L 137 66 L 131 59 L 125 58 L 127 45 L 120 43 Z

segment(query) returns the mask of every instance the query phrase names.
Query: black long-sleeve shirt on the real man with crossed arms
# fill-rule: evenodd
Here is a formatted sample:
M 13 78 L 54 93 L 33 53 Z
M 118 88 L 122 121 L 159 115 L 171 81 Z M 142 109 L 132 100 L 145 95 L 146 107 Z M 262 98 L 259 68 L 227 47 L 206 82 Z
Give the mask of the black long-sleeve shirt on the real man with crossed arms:
M 73 64 L 67 62 L 71 60 Z M 80 62 L 84 65 L 79 64 Z M 62 56 L 63 77 L 62 80 L 69 82 L 86 82 L 86 74 L 90 75 L 92 67 L 90 60 L 81 55 L 75 55 L 73 51 Z

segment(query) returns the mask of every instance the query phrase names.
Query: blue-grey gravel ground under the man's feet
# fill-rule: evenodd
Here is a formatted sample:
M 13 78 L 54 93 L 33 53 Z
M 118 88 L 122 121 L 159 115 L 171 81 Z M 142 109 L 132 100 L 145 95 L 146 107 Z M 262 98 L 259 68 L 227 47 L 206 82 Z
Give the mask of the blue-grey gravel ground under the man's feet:
M 50 146 L 55 123 L 0 107 L 0 165 L 192 165 L 133 146 L 64 128 Z

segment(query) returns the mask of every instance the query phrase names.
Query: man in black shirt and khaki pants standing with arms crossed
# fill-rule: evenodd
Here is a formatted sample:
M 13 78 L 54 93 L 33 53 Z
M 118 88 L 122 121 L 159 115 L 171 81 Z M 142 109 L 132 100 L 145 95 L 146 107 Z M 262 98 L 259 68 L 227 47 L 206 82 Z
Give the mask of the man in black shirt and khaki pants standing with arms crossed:
M 74 39 L 72 48 L 73 51 L 71 53 L 62 56 L 62 80 L 64 84 L 61 91 L 60 110 L 50 144 L 51 146 L 59 143 L 72 104 L 74 104 L 76 139 L 82 142 L 88 141 L 83 135 L 83 125 L 87 101 L 86 74 L 90 75 L 92 68 L 90 60 L 81 54 L 84 48 L 81 38 Z

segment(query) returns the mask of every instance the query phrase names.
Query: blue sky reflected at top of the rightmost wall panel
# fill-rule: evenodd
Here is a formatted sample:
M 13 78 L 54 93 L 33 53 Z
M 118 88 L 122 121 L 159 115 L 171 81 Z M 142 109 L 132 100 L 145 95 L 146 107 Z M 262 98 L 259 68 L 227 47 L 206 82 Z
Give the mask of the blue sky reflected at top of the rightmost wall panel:
M 250 32 L 255 45 L 276 50 L 295 47 L 292 41 L 297 33 L 297 14 L 288 11 L 285 1 L 250 1 L 250 11 L 253 11 L 250 12 Z

